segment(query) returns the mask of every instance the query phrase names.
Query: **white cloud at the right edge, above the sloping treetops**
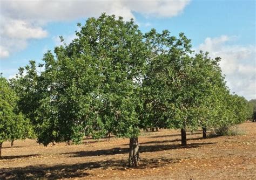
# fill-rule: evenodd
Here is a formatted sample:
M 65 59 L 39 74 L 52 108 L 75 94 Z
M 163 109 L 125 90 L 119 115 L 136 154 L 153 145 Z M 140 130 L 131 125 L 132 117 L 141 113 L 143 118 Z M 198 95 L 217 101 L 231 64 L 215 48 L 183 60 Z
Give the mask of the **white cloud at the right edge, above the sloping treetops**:
M 211 57 L 221 57 L 220 67 L 226 75 L 231 92 L 256 99 L 256 47 L 255 45 L 230 45 L 237 37 L 206 38 L 198 50 L 210 52 Z

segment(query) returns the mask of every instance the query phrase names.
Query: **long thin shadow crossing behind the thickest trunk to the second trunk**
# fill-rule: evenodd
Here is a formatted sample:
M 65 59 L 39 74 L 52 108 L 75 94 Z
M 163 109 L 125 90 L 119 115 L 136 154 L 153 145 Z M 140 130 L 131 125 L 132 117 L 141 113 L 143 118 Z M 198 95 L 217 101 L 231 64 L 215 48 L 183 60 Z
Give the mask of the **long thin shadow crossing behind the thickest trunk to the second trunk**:
M 146 145 L 146 146 L 139 146 L 140 153 L 146 152 L 154 152 L 154 151 L 161 151 L 161 150 L 171 150 L 171 149 L 181 149 L 181 148 L 197 148 L 200 146 L 204 146 L 206 144 L 214 144 L 211 142 L 208 143 L 190 143 L 187 146 L 180 146 L 179 144 L 157 144 L 157 145 Z M 75 153 L 64 153 L 70 154 L 70 157 L 85 157 L 85 156 L 102 156 L 102 155 L 116 155 L 116 154 L 125 154 L 129 153 L 129 148 L 112 148 L 112 149 L 100 149 L 100 150 L 93 150 L 93 151 L 77 151 Z

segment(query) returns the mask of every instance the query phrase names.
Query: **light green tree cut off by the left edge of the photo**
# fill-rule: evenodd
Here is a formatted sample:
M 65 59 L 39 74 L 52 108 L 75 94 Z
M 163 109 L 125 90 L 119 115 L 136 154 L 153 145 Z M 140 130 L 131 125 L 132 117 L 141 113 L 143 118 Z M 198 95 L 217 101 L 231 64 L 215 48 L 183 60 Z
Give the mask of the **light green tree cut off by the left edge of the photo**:
M 9 82 L 0 76 L 0 157 L 2 143 L 16 139 L 25 139 L 31 131 L 30 121 L 17 109 L 18 97 Z

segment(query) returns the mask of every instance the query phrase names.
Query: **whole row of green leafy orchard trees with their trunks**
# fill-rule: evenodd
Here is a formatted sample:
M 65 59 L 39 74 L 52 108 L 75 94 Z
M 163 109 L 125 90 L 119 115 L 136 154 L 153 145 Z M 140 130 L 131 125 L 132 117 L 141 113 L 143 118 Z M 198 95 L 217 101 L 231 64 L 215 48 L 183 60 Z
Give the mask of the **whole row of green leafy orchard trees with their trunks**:
M 181 129 L 186 146 L 186 129 L 206 137 L 207 128 L 248 117 L 248 102 L 226 87 L 220 58 L 193 52 L 184 33 L 142 33 L 133 20 L 105 14 L 78 26 L 43 64 L 30 61 L 9 85 L 1 78 L 0 144 L 21 137 L 7 130 L 15 124 L 45 146 L 111 133 L 130 138 L 129 165 L 137 166 L 140 129 Z

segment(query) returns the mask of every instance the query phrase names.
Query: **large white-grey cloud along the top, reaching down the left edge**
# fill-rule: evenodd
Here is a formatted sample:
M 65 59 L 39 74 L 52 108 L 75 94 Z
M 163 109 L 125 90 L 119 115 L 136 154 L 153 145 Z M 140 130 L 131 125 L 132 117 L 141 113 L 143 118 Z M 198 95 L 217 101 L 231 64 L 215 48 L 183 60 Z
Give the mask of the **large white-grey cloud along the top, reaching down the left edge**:
M 0 2 L 1 54 L 8 57 L 23 50 L 29 39 L 47 36 L 43 26 L 49 22 L 98 17 L 102 12 L 134 18 L 137 12 L 144 16 L 173 17 L 181 13 L 190 0 L 2 0 Z M 21 46 L 17 46 L 17 42 Z

